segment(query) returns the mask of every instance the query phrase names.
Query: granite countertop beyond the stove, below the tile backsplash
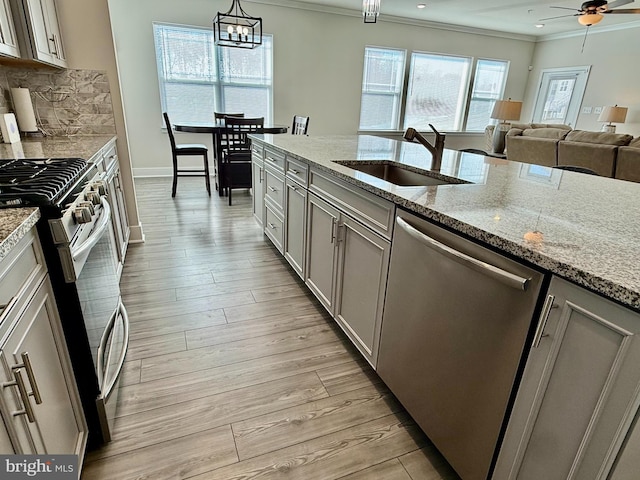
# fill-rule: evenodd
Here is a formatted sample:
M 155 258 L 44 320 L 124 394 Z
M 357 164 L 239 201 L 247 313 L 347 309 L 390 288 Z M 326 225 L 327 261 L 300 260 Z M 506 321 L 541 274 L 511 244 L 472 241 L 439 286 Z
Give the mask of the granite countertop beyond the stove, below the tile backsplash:
M 19 143 L 0 143 L 0 159 L 73 157 L 88 161 L 115 138 L 113 135 L 31 137 Z

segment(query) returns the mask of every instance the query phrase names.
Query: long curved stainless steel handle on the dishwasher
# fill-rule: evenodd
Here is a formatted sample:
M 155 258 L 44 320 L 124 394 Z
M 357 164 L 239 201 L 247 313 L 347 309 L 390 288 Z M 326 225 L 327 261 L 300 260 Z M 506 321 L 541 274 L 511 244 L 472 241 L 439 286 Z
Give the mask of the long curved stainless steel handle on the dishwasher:
M 472 270 L 475 270 L 476 272 L 480 272 L 483 275 L 487 275 L 495 280 L 498 280 L 499 282 L 504 283 L 511 288 L 522 291 L 525 291 L 527 289 L 530 281 L 529 278 L 523 278 L 511 272 L 507 272 L 506 270 L 498 268 L 495 265 L 483 262 L 482 260 L 478 260 L 477 258 L 471 257 L 443 243 L 440 243 L 437 240 L 422 233 L 420 230 L 415 228 L 413 225 L 410 225 L 399 216 L 396 217 L 396 223 L 412 238 L 418 240 L 423 245 L 441 253 L 442 255 L 445 255 L 455 260 L 456 262 L 468 268 L 471 268 Z

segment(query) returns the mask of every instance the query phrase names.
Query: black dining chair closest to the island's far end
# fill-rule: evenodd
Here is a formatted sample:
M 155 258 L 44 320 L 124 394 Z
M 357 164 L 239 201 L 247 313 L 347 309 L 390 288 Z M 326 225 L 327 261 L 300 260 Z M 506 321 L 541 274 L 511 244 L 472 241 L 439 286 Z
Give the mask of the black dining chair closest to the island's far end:
M 229 195 L 234 188 L 251 188 L 251 139 L 249 133 L 258 133 L 264 127 L 264 117 L 226 117 L 220 129 L 220 188 Z

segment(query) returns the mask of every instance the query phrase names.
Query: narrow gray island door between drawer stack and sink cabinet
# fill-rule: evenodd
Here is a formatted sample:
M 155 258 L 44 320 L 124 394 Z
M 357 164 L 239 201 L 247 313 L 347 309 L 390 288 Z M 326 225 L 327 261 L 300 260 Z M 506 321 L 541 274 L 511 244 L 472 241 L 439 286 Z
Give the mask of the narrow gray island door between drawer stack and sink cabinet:
M 284 257 L 304 278 L 307 189 L 289 179 L 286 180 L 284 218 Z

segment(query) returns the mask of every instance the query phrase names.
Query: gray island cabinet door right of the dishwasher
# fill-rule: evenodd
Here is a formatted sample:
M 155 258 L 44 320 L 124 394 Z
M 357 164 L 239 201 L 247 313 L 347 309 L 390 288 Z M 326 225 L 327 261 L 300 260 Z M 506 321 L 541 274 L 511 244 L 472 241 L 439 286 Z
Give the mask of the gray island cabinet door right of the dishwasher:
M 545 307 L 493 478 L 608 478 L 638 409 L 640 315 L 558 278 Z

